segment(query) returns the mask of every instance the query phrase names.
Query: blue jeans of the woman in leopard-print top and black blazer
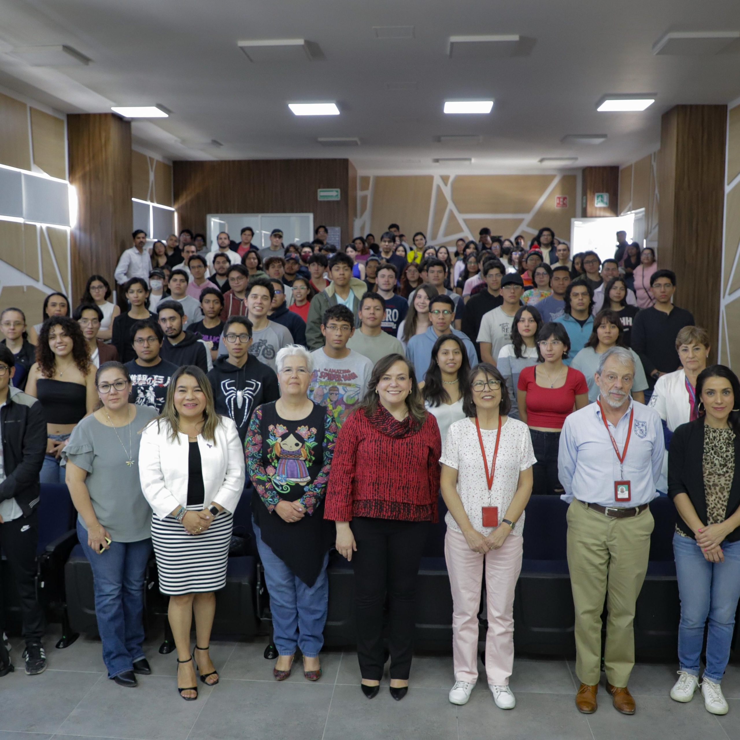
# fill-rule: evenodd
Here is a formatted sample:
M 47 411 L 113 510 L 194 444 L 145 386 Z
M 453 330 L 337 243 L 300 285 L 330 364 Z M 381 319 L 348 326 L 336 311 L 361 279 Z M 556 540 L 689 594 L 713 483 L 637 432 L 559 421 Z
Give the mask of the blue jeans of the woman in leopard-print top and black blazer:
M 735 613 L 740 599 L 740 541 L 722 542 L 724 562 L 709 562 L 690 537 L 673 535 L 676 576 L 681 596 L 679 664 L 699 676 L 699 656 L 707 628 L 704 678 L 719 683 L 730 659 Z

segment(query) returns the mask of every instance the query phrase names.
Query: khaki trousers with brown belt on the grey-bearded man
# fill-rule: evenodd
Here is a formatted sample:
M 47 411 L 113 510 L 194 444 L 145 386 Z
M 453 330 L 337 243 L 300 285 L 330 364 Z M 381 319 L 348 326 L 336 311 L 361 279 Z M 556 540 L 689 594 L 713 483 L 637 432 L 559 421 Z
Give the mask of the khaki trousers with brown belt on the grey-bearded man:
M 612 519 L 573 499 L 567 519 L 576 676 L 590 686 L 599 683 L 606 597 L 606 679 L 612 686 L 627 686 L 635 664 L 635 603 L 647 572 L 653 515 L 648 508 L 636 517 Z

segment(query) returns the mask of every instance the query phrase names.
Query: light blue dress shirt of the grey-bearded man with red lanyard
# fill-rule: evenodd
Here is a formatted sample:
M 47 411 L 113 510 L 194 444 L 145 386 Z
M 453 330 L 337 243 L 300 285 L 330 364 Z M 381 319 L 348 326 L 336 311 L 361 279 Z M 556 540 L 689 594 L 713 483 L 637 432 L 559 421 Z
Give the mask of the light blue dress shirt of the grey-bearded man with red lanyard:
M 565 489 L 563 501 L 570 503 L 576 498 L 612 508 L 631 508 L 658 496 L 656 485 L 665 451 L 658 414 L 642 403 L 630 402 L 616 427 L 608 422 L 609 431 L 621 454 L 633 409 L 632 436 L 621 471 L 597 403 L 590 403 L 565 419 L 558 454 L 558 477 Z M 614 500 L 616 480 L 630 481 L 630 501 Z

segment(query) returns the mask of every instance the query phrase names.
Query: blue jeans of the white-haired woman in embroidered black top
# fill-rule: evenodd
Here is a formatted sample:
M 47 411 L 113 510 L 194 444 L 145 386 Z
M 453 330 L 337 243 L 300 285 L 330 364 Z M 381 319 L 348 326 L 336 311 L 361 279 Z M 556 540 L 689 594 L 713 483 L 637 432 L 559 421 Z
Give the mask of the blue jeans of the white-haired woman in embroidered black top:
M 257 522 L 252 521 L 252 526 L 255 528 L 257 549 L 265 568 L 277 652 L 280 655 L 293 655 L 297 645 L 304 657 L 315 658 L 323 647 L 323 628 L 329 610 L 329 577 L 326 576 L 329 553 L 324 556 L 316 582 L 309 588 L 262 541 Z

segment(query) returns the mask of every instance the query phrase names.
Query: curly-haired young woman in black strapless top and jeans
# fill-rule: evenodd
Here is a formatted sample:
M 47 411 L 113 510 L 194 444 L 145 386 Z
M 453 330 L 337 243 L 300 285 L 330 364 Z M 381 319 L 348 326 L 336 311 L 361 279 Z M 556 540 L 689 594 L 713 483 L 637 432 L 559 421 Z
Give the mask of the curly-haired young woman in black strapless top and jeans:
M 138 279 L 138 278 L 137 278 Z M 91 414 L 98 396 L 95 367 L 77 322 L 66 316 L 44 321 L 36 346 L 36 363 L 28 372 L 26 393 L 38 398 L 47 423 L 47 450 L 42 483 L 63 483 L 61 451 L 75 425 Z

